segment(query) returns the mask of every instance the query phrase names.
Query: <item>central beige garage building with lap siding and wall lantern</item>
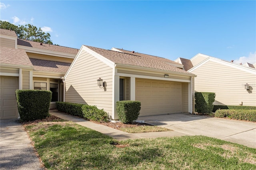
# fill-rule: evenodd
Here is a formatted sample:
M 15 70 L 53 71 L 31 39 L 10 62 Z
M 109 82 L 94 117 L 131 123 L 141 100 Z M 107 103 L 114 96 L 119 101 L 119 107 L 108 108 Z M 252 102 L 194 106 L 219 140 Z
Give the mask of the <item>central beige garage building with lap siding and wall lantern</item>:
M 161 57 L 82 45 L 64 76 L 65 102 L 95 105 L 118 119 L 116 102 L 138 100 L 140 116 L 193 112 L 195 74 Z M 103 86 L 98 86 L 101 78 Z

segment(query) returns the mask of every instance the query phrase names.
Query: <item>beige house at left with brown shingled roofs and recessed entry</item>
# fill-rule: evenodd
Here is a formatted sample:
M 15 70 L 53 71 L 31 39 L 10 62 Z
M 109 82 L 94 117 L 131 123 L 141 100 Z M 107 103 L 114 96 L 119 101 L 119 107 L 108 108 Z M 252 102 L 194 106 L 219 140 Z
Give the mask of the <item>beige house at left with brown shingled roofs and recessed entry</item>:
M 17 39 L 0 29 L 0 119 L 18 118 L 16 89 L 52 91 L 50 108 L 63 101 L 62 77 L 78 49 Z

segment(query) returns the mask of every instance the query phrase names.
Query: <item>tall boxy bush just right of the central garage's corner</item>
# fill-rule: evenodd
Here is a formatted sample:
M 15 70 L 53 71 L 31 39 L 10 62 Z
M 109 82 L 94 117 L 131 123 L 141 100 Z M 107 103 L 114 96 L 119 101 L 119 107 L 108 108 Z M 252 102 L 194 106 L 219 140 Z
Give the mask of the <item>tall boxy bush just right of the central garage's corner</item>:
M 195 109 L 198 113 L 212 113 L 215 93 L 211 92 L 195 92 Z

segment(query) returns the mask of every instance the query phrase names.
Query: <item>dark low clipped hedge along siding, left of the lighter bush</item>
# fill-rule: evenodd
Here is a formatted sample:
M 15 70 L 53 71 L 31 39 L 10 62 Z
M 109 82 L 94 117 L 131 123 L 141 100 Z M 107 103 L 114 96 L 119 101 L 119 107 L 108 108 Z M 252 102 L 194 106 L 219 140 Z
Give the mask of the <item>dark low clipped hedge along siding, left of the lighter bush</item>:
M 82 106 L 84 106 L 84 104 L 56 102 L 56 109 L 58 111 L 78 117 L 83 117 Z

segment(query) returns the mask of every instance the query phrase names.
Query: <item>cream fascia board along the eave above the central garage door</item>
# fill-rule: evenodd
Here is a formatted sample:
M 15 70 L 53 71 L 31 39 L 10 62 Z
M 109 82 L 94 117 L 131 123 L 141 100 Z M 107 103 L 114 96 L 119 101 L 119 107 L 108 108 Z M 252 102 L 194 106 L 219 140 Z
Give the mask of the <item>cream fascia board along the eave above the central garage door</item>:
M 141 67 L 141 66 L 132 66 L 132 65 L 126 65 L 126 64 L 115 64 L 116 67 L 120 68 L 131 68 L 131 69 L 136 69 L 136 70 L 144 70 L 144 71 L 151 71 L 151 72 L 161 72 L 164 74 L 172 74 L 172 75 L 180 75 L 180 76 L 188 76 L 188 77 L 196 77 L 195 74 L 190 74 L 190 73 L 179 73 L 179 72 L 173 72 L 173 71 L 168 71 L 168 70 L 159 70 L 156 68 L 146 68 L 146 67 Z

